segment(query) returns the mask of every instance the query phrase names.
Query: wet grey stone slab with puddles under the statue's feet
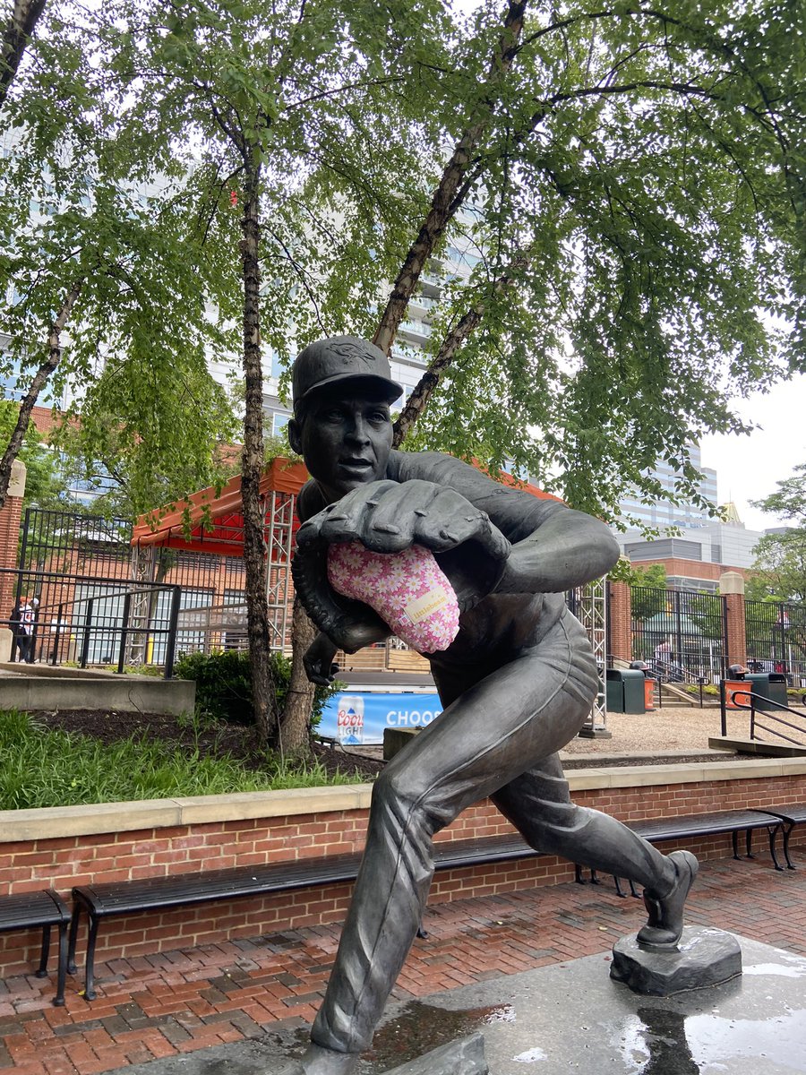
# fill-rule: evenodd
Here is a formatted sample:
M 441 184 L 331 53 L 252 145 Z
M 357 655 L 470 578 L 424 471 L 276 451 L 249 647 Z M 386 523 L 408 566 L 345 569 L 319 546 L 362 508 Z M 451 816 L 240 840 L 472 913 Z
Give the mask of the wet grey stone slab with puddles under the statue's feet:
M 474 1031 L 484 1034 L 490 1075 L 806 1072 L 806 958 L 738 940 L 740 978 L 674 997 L 641 997 L 611 981 L 603 954 L 397 1004 L 361 1075 Z M 301 1038 L 277 1034 L 119 1075 L 272 1075 Z

